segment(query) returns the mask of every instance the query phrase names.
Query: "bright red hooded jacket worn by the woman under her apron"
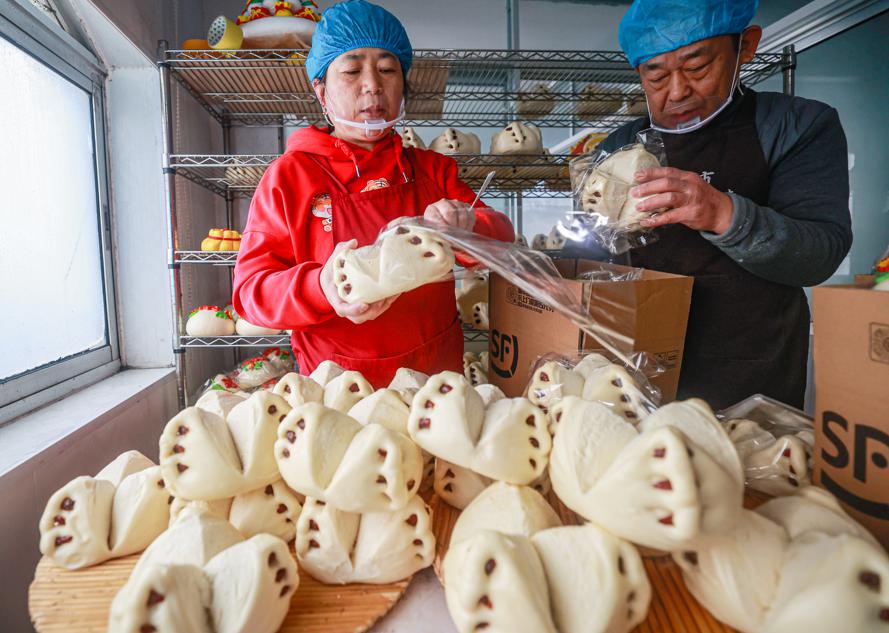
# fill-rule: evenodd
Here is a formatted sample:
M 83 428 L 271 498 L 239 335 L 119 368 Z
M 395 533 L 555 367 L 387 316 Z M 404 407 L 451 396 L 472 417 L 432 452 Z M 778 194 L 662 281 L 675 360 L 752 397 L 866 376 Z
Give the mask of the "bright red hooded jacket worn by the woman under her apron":
M 475 198 L 475 192 L 458 178 L 452 158 L 427 150 L 405 150 L 394 132 L 371 150 L 316 127 L 291 135 L 287 152 L 269 166 L 250 206 L 235 266 L 233 303 L 238 314 L 255 325 L 295 332 L 310 331 L 331 319 L 343 320 L 333 312 L 319 283 L 321 268 L 335 246 L 329 220 L 319 217 L 319 211 L 323 212 L 324 195 L 334 190 L 334 183 L 319 175 L 307 155 L 326 159 L 339 182 L 350 193 L 358 193 L 375 188 L 381 179 L 401 182 L 405 152 L 412 152 L 410 162 L 434 180 L 445 198 L 464 202 Z M 514 237 L 509 219 L 488 207 L 476 209 L 475 232 L 501 241 Z M 385 341 L 379 342 L 379 351 L 380 356 L 389 351 Z

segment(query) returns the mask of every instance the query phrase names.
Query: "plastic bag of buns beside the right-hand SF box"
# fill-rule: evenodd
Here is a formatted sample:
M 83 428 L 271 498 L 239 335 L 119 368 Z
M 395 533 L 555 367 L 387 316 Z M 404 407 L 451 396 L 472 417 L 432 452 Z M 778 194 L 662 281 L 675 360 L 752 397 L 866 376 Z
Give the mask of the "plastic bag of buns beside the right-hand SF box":
M 811 483 L 815 426 L 805 413 L 755 395 L 718 415 L 741 456 L 748 487 L 782 496 Z

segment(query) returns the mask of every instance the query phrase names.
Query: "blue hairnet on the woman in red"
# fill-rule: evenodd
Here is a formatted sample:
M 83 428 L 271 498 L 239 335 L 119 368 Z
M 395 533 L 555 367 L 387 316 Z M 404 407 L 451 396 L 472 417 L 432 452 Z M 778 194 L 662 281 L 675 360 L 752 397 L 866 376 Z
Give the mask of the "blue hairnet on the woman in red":
M 356 48 L 389 51 L 398 57 L 405 76 L 414 59 L 411 41 L 398 18 L 365 0 L 348 0 L 322 14 L 306 59 L 309 81 L 323 79 L 333 60 Z

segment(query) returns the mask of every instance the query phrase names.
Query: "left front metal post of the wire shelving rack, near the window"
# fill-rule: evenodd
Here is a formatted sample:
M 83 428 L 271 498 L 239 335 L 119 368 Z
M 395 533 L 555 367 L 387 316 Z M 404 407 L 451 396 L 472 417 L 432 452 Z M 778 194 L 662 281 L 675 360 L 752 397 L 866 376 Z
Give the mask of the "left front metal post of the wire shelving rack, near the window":
M 179 266 L 176 264 L 176 251 L 179 248 L 176 222 L 176 172 L 170 167 L 170 154 L 173 153 L 173 102 L 171 99 L 170 66 L 167 63 L 166 40 L 160 40 L 157 46 L 157 64 L 161 89 L 161 116 L 164 128 L 163 156 L 161 165 L 164 174 L 164 204 L 167 212 L 167 269 L 170 271 L 170 305 L 173 321 L 173 358 L 176 364 L 176 389 L 179 397 L 179 408 L 185 408 L 187 392 L 185 356 L 181 348 L 179 336 L 182 332 L 182 286 L 180 284 Z

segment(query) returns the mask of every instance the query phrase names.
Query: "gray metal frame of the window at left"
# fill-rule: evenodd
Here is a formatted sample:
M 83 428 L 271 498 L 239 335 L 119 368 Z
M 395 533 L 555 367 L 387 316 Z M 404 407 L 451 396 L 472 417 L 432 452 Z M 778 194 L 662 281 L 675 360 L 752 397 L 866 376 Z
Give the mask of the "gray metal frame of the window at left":
M 0 38 L 90 95 L 96 217 L 105 302 L 104 345 L 0 383 L 0 424 L 106 378 L 120 369 L 105 130 L 105 72 L 96 57 L 30 2 L 0 3 Z

